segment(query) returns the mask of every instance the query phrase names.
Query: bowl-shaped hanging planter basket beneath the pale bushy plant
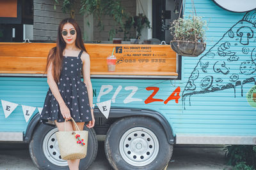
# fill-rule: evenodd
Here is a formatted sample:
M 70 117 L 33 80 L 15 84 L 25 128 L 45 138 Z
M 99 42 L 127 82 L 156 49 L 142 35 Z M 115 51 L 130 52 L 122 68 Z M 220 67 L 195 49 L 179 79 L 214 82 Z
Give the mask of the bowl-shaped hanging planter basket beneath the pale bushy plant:
M 198 43 L 194 41 L 171 41 L 173 51 L 178 55 L 197 57 L 204 52 L 206 43 Z

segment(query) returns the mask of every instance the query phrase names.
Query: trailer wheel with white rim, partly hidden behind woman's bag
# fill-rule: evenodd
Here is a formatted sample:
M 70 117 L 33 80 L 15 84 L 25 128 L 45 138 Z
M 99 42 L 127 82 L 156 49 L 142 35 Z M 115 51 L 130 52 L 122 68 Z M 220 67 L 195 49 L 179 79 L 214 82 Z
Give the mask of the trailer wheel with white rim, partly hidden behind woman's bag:
M 80 160 L 79 169 L 88 169 L 96 158 L 98 141 L 94 129 L 88 129 L 87 155 Z M 29 143 L 31 159 L 39 169 L 68 169 L 66 160 L 61 159 L 56 138 L 57 127 L 38 124 Z

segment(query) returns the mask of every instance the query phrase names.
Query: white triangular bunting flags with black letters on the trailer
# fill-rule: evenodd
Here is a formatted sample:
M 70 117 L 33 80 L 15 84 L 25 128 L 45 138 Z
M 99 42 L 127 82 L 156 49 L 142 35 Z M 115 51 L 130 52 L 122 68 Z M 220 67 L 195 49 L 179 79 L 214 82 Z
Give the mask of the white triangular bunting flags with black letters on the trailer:
M 3 111 L 4 111 L 4 117 L 8 118 L 12 112 L 17 108 L 17 106 L 21 105 L 22 106 L 22 111 L 23 111 L 23 115 L 24 118 L 26 120 L 26 122 L 28 122 L 29 118 L 33 115 L 34 111 L 38 110 L 39 114 L 41 115 L 43 108 L 41 107 L 33 107 L 33 106 L 26 106 L 23 104 L 17 104 L 17 103 L 12 103 L 10 101 L 4 101 L 1 99 L 1 103 L 3 106 Z M 109 99 L 108 101 L 104 101 L 101 103 L 96 103 L 100 112 L 104 115 L 104 117 L 108 118 L 109 116 L 109 110 L 111 107 L 111 99 Z M 93 107 L 95 106 L 95 104 L 93 104 Z

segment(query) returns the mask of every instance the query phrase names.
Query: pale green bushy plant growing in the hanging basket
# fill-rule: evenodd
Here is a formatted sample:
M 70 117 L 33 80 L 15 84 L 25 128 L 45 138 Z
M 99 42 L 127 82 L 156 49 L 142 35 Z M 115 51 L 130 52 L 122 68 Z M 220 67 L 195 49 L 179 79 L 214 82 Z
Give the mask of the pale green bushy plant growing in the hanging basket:
M 173 20 L 170 32 L 173 35 L 173 40 L 204 43 L 206 29 L 206 21 L 202 20 L 202 17 L 189 15 L 188 18 Z

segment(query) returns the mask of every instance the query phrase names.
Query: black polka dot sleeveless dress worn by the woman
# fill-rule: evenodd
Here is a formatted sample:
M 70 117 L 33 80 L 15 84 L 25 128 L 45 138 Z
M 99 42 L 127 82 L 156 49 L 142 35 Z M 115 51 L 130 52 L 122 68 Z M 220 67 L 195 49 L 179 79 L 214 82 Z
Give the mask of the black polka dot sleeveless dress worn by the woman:
M 89 122 L 92 120 L 89 97 L 86 84 L 81 81 L 82 53 L 83 50 L 81 50 L 78 57 L 63 56 L 60 81 L 57 85 L 61 97 L 70 110 L 71 117 L 76 122 Z M 40 115 L 40 122 L 45 124 L 48 120 L 65 121 L 61 115 L 59 103 L 50 88 L 46 94 L 44 107 Z

